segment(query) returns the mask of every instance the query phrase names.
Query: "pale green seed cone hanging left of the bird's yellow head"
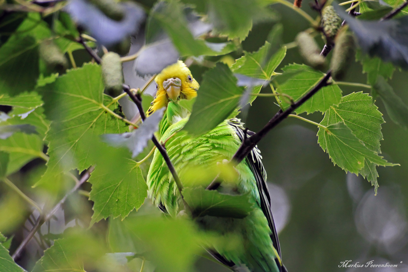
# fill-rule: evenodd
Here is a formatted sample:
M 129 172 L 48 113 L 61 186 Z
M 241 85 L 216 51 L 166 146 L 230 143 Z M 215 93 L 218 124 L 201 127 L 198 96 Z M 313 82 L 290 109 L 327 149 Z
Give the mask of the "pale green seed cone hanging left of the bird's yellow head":
M 106 91 L 111 96 L 120 95 L 123 84 L 120 56 L 116 53 L 108 52 L 103 55 L 101 65 Z

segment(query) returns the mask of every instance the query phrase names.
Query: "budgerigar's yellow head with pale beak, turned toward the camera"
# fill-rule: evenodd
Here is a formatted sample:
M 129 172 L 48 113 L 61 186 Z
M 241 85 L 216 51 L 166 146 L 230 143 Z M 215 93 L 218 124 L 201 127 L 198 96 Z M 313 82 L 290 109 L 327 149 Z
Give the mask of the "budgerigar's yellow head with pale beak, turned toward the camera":
M 197 80 L 191 75 L 190 69 L 181 60 L 164 68 L 155 77 L 155 82 L 157 93 L 147 111 L 147 116 L 166 106 L 169 101 L 193 99 L 197 96 L 197 90 L 200 87 Z

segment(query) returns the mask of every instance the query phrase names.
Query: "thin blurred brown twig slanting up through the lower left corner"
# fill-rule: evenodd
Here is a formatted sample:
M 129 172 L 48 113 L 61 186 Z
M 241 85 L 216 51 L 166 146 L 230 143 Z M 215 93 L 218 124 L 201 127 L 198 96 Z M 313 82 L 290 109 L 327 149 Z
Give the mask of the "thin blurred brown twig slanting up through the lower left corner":
M 54 215 L 54 213 L 61 207 L 61 205 L 65 202 L 65 200 L 67 200 L 67 197 L 69 197 L 69 195 L 71 195 L 73 192 L 78 190 L 78 188 L 80 188 L 80 186 L 85 181 L 87 181 L 89 179 L 89 177 L 91 177 L 91 172 L 94 169 L 95 168 L 93 166 L 91 166 L 88 170 L 86 170 L 85 174 L 79 180 L 79 183 L 75 184 L 75 186 L 71 189 L 71 191 L 67 192 L 67 194 L 54 206 L 54 208 L 52 208 L 52 210 L 47 215 L 42 214 L 42 215 L 40 215 L 38 217 L 38 219 L 35 222 L 35 225 L 33 226 L 33 228 L 30 230 L 30 232 L 27 234 L 27 236 L 24 238 L 24 240 L 18 246 L 18 248 L 14 252 L 13 256 L 11 256 L 13 258 L 13 260 L 16 260 L 20 256 L 22 250 L 28 244 L 28 242 L 31 240 L 31 238 L 33 238 L 35 232 L 37 232 L 41 228 L 42 224 L 44 224 L 49 219 L 51 219 L 51 217 Z

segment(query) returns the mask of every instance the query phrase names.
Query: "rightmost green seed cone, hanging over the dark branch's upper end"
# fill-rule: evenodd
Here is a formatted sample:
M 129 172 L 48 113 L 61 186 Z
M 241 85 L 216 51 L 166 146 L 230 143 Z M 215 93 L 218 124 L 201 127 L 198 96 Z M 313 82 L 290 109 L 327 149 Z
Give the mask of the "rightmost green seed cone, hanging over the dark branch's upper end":
M 348 67 L 355 59 L 355 40 L 351 32 L 343 30 L 336 38 L 336 45 L 333 49 L 333 56 L 330 62 L 332 77 L 335 80 L 342 80 Z

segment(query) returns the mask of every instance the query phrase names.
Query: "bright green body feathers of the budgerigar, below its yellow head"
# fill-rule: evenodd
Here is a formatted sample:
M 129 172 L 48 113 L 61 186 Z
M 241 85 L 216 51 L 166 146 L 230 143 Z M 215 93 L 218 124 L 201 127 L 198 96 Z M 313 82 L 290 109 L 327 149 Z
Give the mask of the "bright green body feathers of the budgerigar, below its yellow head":
M 186 124 L 187 119 L 170 124 L 165 114 L 159 129 L 160 142 L 167 140 L 167 153 L 180 176 L 183 176 L 183 171 L 186 169 L 211 165 L 231 158 L 241 144 L 234 126 L 231 125 L 233 121 L 224 121 L 205 135 L 191 137 L 184 132 L 178 132 Z M 240 124 L 237 123 L 237 125 Z M 174 133 L 176 134 L 173 135 Z M 280 266 L 276 259 L 277 251 L 273 248 L 270 238 L 271 229 L 260 206 L 254 174 L 247 161 L 242 161 L 235 168 L 239 174 L 238 179 L 233 184 L 221 184 L 217 190 L 230 194 L 249 192 L 251 202 L 255 203 L 254 210 L 244 219 L 206 215 L 195 220 L 203 230 L 217 232 L 224 237 L 235 235 L 242 241 L 243 250 L 231 249 L 222 243 L 212 245 L 213 250 L 226 260 L 233 261 L 236 265 L 246 265 L 253 272 L 277 272 L 278 265 Z M 180 212 L 180 206 L 182 206 L 180 193 L 158 150 L 154 153 L 147 175 L 147 185 L 149 195 L 156 205 L 164 205 L 172 216 Z

